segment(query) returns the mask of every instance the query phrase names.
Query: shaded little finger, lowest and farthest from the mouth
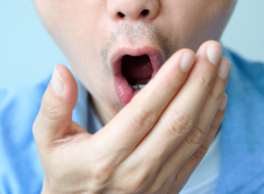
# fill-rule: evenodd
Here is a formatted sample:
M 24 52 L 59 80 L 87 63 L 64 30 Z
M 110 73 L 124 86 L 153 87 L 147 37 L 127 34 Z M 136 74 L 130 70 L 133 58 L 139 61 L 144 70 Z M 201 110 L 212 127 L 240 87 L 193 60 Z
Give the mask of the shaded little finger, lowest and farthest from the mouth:
M 214 117 L 214 121 L 210 126 L 208 134 L 205 138 L 205 142 L 196 150 L 196 152 L 187 160 L 187 162 L 178 171 L 173 188 L 170 190 L 169 194 L 178 193 L 187 183 L 193 171 L 196 170 L 197 165 L 202 161 L 207 152 L 210 143 L 214 140 L 214 136 L 217 133 L 226 110 L 227 96 L 223 95 L 223 100 L 220 104 L 223 110 L 219 109 Z

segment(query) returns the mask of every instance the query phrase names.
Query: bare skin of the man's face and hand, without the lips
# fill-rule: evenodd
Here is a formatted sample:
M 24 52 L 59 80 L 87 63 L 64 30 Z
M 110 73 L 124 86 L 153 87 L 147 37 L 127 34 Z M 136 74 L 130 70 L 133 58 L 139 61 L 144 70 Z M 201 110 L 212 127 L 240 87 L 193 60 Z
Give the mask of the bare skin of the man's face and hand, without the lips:
M 33 125 L 45 173 L 42 193 L 178 193 L 223 120 L 230 62 L 219 42 L 207 41 L 220 39 L 235 4 L 35 0 L 105 124 L 92 135 L 72 121 L 77 83 L 57 66 Z M 142 16 L 144 9 L 150 13 Z M 126 106 L 109 62 L 122 45 L 150 45 L 167 60 Z

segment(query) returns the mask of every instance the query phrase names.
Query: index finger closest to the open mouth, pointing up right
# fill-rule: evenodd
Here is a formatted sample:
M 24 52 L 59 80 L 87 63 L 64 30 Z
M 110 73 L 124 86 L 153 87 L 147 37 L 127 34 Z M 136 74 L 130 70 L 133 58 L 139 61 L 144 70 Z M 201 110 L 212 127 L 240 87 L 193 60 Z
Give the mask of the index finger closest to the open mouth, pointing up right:
M 195 53 L 190 50 L 174 54 L 159 69 L 155 79 L 151 79 L 103 130 L 93 136 L 94 141 L 104 144 L 105 152 L 114 152 L 121 159 L 125 158 L 155 125 L 168 102 L 187 79 L 195 58 Z M 162 88 L 162 92 L 157 88 Z

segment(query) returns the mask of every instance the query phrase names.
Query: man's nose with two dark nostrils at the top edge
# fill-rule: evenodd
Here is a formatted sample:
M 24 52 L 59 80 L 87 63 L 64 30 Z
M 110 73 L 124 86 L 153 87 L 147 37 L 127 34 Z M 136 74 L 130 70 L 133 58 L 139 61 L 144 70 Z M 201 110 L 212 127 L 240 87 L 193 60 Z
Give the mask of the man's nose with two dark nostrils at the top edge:
M 107 14 L 114 20 L 152 20 L 160 10 L 159 0 L 107 0 Z

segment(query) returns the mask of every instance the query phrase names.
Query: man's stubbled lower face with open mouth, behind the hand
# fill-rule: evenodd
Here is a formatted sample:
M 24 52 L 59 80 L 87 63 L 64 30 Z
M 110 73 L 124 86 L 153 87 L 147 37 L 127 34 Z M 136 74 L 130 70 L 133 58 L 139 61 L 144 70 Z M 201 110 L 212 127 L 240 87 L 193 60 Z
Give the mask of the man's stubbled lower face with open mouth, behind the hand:
M 78 79 L 109 117 L 175 51 L 196 51 L 207 40 L 219 41 L 236 4 L 236 0 L 34 2 Z

